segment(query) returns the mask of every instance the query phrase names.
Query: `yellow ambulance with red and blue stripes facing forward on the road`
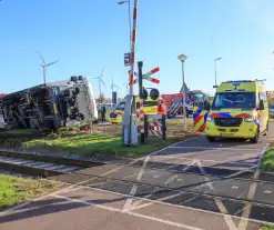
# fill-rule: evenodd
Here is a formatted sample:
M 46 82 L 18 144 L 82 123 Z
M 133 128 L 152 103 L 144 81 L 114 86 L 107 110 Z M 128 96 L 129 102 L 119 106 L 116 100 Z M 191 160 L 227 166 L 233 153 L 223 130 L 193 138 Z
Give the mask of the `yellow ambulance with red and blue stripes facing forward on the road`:
M 263 83 L 257 80 L 222 82 L 204 119 L 210 142 L 216 138 L 243 138 L 256 143 L 268 131 L 268 102 Z

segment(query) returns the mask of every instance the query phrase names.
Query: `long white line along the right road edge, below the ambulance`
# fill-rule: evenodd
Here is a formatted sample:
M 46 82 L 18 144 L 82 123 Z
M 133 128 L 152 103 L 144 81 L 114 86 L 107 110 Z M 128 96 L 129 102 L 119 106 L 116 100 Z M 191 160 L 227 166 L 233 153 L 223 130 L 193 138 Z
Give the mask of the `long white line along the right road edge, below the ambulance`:
M 262 158 L 263 158 L 266 149 L 268 148 L 268 146 L 270 146 L 270 143 L 266 143 L 265 148 L 260 153 L 260 158 L 258 158 L 258 161 L 257 161 L 256 170 L 254 172 L 254 179 L 255 180 L 260 176 L 260 164 L 261 164 Z M 252 184 L 250 187 L 250 190 L 248 190 L 248 193 L 247 193 L 247 199 L 250 199 L 250 200 L 253 200 L 254 199 L 254 196 L 255 196 L 257 186 L 258 186 L 258 182 L 256 182 L 256 181 L 252 182 Z M 246 218 L 250 217 L 251 210 L 252 210 L 252 203 L 248 202 L 244 207 L 244 210 L 243 210 L 243 213 L 242 213 L 242 219 L 241 219 L 241 221 L 239 223 L 239 230 L 246 230 L 247 223 L 248 223 L 248 221 L 246 220 Z

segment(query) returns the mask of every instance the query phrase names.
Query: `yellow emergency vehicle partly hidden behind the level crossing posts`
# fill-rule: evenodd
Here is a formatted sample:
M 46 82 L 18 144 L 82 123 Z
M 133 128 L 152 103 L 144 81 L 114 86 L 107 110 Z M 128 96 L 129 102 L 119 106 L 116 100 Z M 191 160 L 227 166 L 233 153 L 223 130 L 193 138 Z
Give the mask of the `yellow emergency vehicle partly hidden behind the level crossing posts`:
M 135 97 L 135 103 L 136 103 L 136 113 L 139 113 L 140 97 Z M 144 100 L 143 103 L 144 103 L 145 114 L 158 114 L 158 100 L 152 100 L 150 97 L 148 97 L 148 99 Z M 110 122 L 122 123 L 122 116 L 124 113 L 124 104 L 125 104 L 124 101 L 116 104 L 115 109 L 110 113 Z

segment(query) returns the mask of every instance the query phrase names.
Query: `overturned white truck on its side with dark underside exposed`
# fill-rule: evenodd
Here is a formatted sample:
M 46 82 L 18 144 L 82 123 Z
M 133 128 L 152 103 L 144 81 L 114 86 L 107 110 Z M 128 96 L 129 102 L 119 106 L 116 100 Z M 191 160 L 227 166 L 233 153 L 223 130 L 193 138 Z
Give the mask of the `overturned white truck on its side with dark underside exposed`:
M 91 83 L 82 76 L 7 94 L 0 108 L 10 129 L 57 130 L 98 119 Z

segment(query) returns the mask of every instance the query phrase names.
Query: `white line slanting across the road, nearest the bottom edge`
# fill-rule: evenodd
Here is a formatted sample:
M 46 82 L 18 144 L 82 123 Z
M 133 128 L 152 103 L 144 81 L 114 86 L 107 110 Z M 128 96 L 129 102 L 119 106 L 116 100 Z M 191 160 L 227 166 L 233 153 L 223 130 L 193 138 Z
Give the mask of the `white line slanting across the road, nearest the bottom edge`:
M 97 208 L 101 208 L 101 209 L 104 209 L 104 210 L 108 210 L 108 211 L 121 212 L 120 209 L 112 208 L 112 207 L 106 207 L 106 206 L 102 206 L 102 204 L 98 204 L 98 203 L 90 202 L 90 201 L 84 201 L 84 200 L 80 200 L 80 199 L 72 199 L 72 198 L 58 196 L 58 194 L 53 194 L 51 197 L 63 199 L 63 200 L 70 201 L 70 202 L 82 203 L 82 204 L 85 204 L 85 206 L 94 206 Z M 183 229 L 203 230 L 203 229 L 195 228 L 195 227 L 192 227 L 192 226 L 186 226 L 186 224 L 183 224 L 183 223 L 177 223 L 177 222 L 173 222 L 173 221 L 170 221 L 170 220 L 154 218 L 154 217 L 150 217 L 150 216 L 145 216 L 145 214 L 140 214 L 140 213 L 134 213 L 134 212 L 123 212 L 123 213 L 129 214 L 129 216 L 133 216 L 133 217 L 143 218 L 143 219 L 146 219 L 146 220 L 153 220 L 153 221 L 161 222 L 161 223 L 164 223 L 164 224 L 168 224 L 168 226 L 179 227 L 179 228 L 183 228 Z

